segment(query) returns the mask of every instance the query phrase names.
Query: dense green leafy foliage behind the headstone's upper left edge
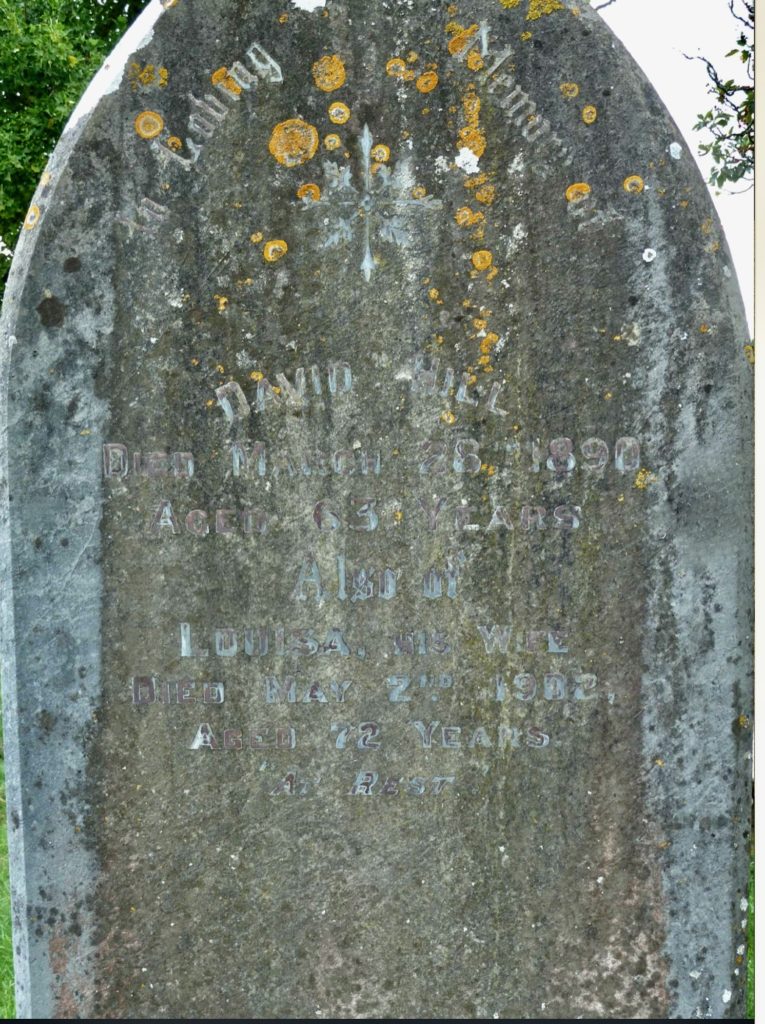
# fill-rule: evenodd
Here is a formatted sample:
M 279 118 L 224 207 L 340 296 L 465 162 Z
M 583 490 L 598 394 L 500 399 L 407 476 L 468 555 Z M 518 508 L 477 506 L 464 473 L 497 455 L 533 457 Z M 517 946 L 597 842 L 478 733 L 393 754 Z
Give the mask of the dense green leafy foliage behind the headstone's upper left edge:
M 9 249 L 67 119 L 145 2 L 0 0 L 0 238 Z M 8 260 L 0 264 L 7 272 Z

